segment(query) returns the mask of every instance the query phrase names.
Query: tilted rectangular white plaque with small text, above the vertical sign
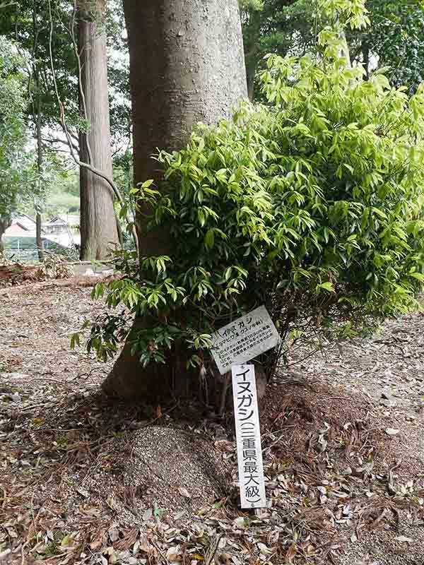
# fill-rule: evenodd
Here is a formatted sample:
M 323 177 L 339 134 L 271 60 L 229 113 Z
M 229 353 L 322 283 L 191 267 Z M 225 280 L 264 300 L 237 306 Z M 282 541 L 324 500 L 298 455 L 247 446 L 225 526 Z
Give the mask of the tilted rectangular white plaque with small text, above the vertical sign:
M 223 375 L 230 371 L 232 364 L 250 361 L 278 345 L 279 341 L 276 326 L 266 308 L 260 306 L 214 333 L 211 353 Z

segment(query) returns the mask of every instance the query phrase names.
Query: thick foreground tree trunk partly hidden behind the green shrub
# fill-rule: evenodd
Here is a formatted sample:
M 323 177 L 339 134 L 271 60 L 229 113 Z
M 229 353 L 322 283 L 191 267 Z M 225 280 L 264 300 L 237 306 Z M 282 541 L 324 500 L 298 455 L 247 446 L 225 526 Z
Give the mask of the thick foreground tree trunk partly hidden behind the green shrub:
M 156 148 L 178 150 L 197 121 L 211 124 L 246 97 L 246 73 L 237 0 L 124 0 L 129 38 L 135 182 L 158 179 Z M 143 210 L 141 210 L 142 212 Z M 165 238 L 144 232 L 137 213 L 140 254 L 166 251 Z M 134 326 L 146 325 L 136 320 Z M 129 345 L 104 383 L 124 398 L 152 397 L 183 383 L 185 352 L 167 365 L 142 369 Z

